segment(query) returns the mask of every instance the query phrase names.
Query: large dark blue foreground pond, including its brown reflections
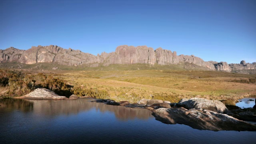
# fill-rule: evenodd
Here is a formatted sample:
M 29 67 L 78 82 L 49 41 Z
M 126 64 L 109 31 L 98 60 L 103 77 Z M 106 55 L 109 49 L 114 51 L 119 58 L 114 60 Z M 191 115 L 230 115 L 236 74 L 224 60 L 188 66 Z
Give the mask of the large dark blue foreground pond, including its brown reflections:
M 80 100 L 0 100 L 0 144 L 253 144 L 256 132 L 196 130 L 150 110 Z

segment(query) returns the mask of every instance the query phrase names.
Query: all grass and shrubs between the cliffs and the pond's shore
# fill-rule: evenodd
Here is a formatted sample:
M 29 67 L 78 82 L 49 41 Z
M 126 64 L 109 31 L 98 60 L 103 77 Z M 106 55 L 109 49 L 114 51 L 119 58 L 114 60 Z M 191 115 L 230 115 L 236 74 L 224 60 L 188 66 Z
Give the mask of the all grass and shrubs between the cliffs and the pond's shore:
M 127 100 L 131 103 L 143 98 L 170 102 L 192 97 L 236 100 L 256 94 L 255 74 L 186 70 L 186 64 L 154 65 L 151 66 L 152 70 L 149 69 L 150 65 L 143 64 L 100 66 L 88 70 L 79 70 L 82 69 L 79 66 L 59 67 L 43 63 L 23 66 L 38 68 L 26 71 L 1 70 L 1 97 L 21 96 L 35 88 L 48 88 L 61 96 L 76 94 L 116 101 Z M 52 67 L 58 69 L 45 70 Z M 62 70 L 64 67 L 73 70 Z M 128 70 L 130 68 L 133 70 Z

